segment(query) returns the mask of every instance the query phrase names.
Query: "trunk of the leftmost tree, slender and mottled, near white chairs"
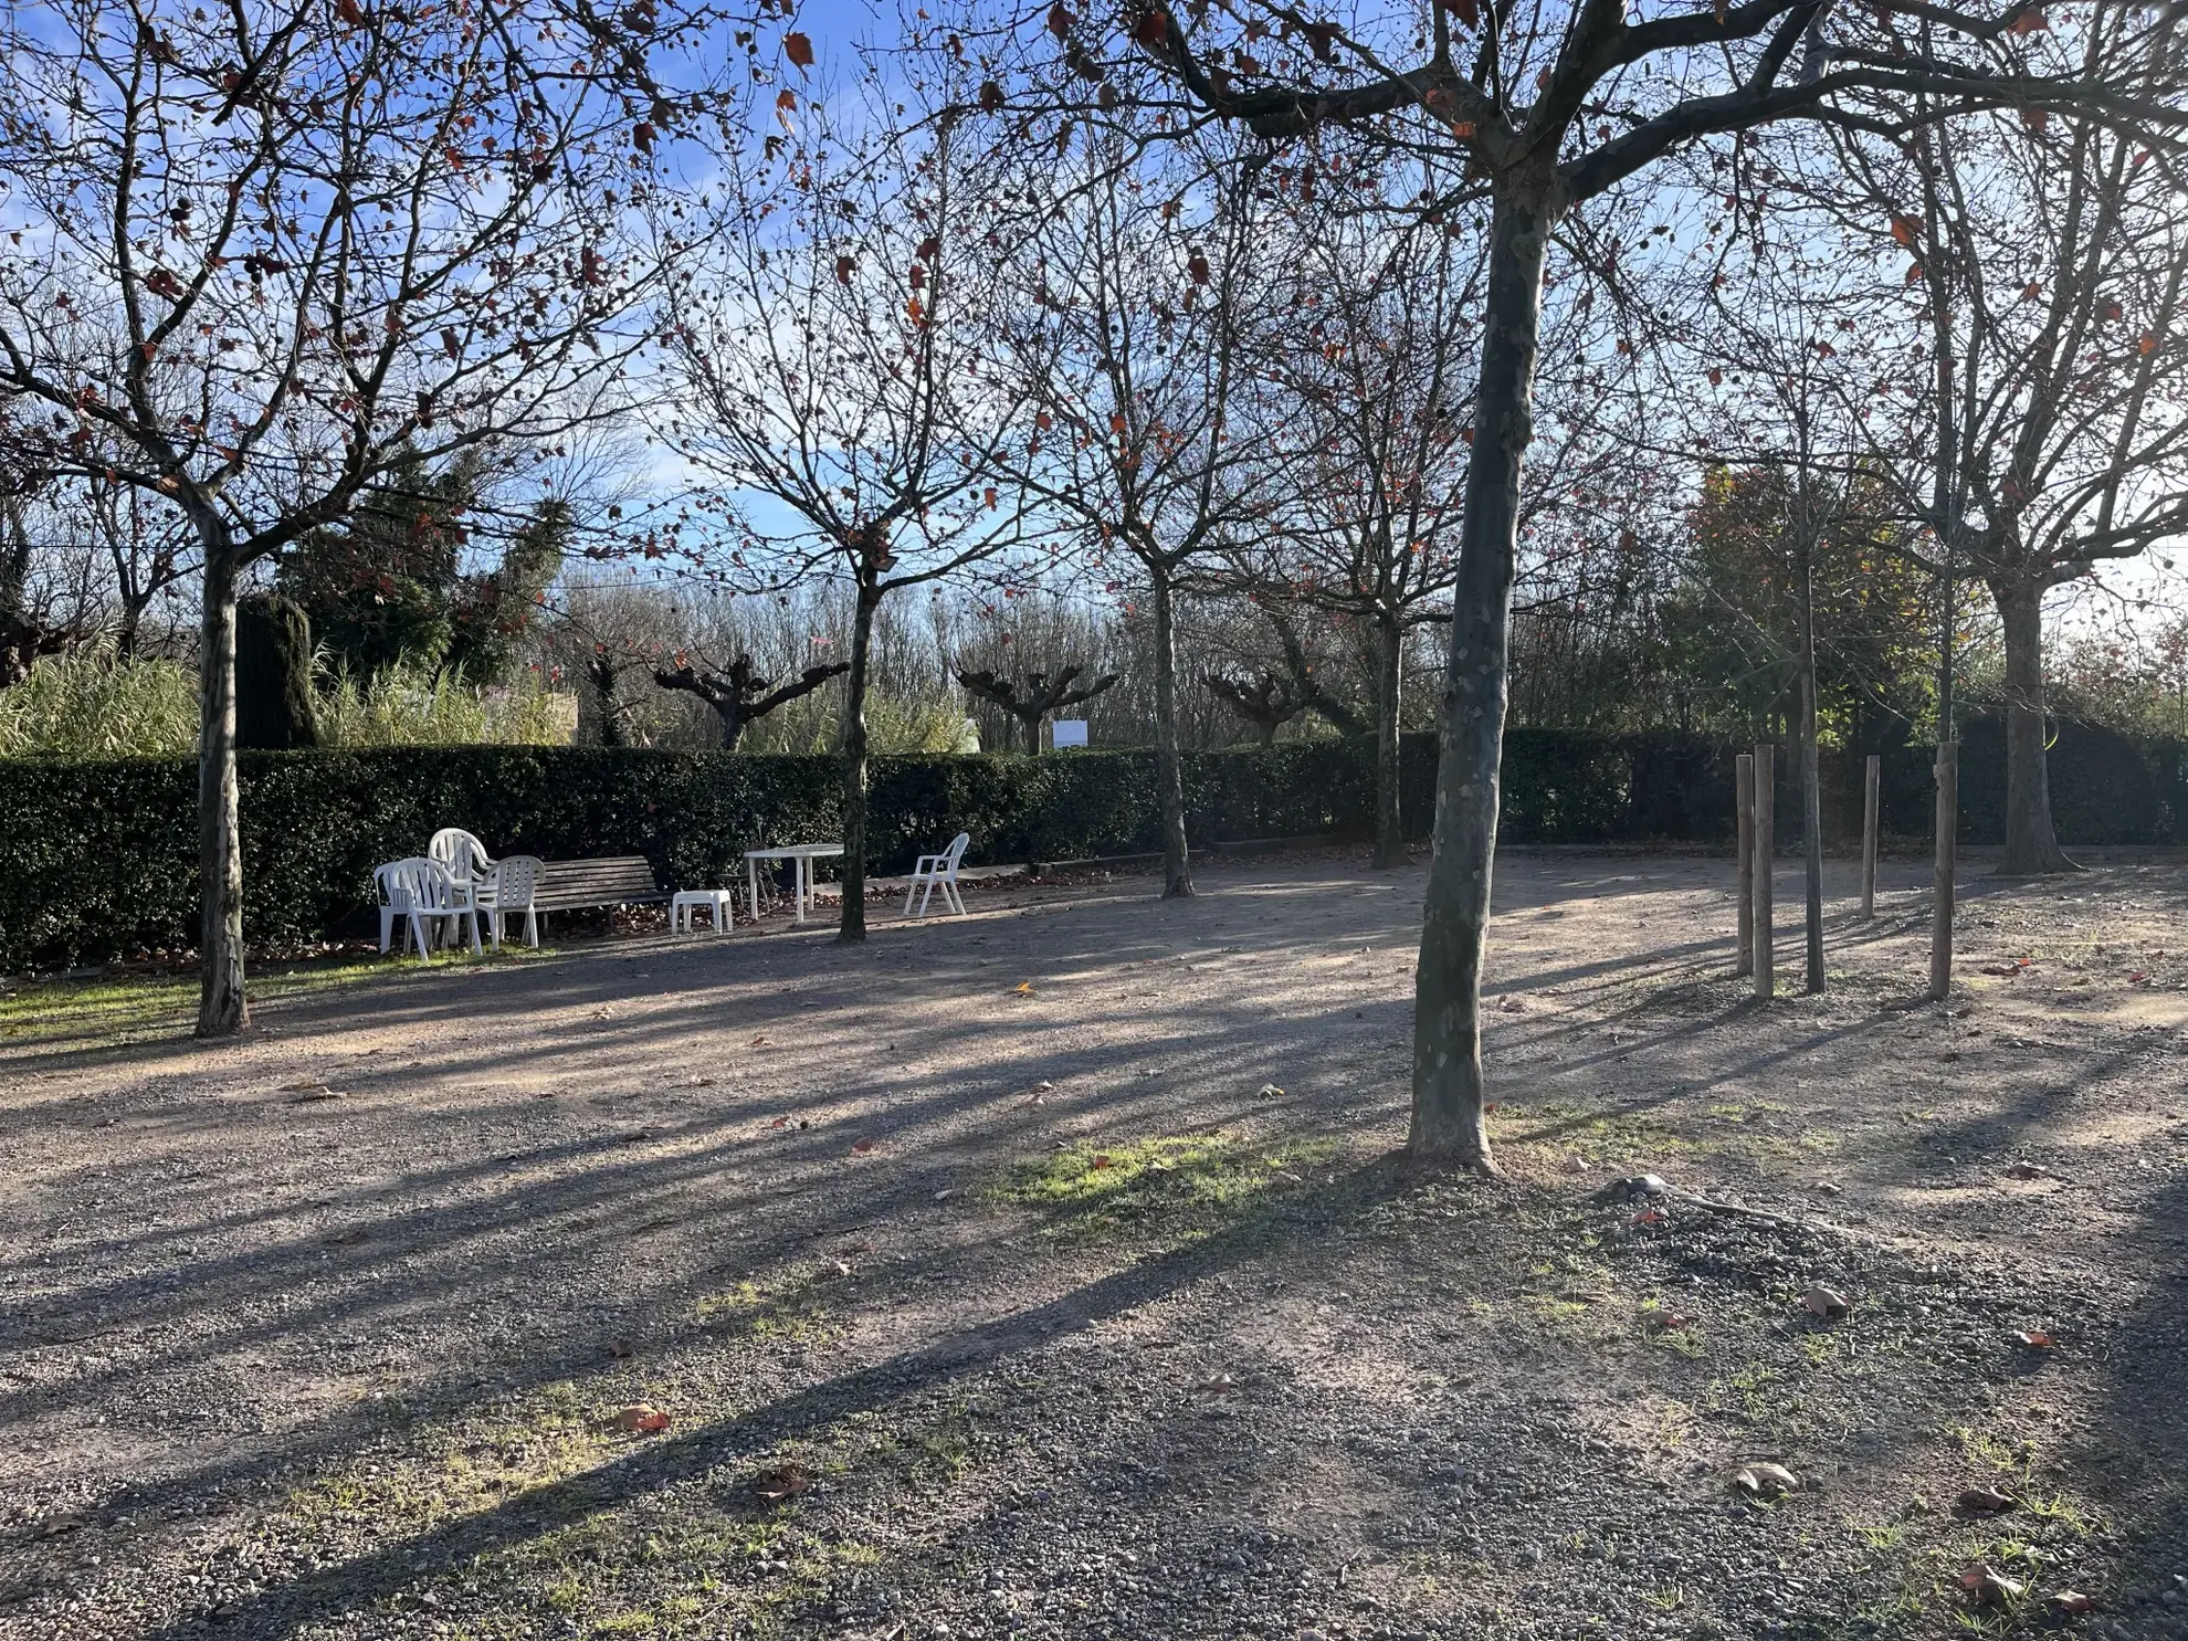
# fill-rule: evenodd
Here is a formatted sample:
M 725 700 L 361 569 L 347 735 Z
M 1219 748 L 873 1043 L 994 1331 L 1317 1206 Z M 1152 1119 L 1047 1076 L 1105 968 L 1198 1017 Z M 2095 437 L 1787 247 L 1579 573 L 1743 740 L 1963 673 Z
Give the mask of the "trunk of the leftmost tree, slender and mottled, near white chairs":
M 249 1024 L 236 799 L 236 567 L 210 543 L 197 626 L 197 1035 L 232 1037 Z

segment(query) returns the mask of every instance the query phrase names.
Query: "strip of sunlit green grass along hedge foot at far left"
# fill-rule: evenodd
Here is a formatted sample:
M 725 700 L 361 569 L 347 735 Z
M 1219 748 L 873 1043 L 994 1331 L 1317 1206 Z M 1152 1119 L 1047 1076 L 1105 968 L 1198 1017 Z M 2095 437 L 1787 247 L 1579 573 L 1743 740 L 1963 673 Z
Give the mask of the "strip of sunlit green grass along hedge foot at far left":
M 247 971 L 254 1004 L 295 998 L 335 987 L 354 987 L 457 963 L 521 963 L 543 956 L 505 945 L 486 958 L 442 954 L 433 958 L 335 956 L 304 963 L 269 963 Z M 90 980 L 18 980 L 0 989 L 0 1044 L 72 1044 L 105 1048 L 173 1037 L 197 1024 L 197 974 L 120 974 Z

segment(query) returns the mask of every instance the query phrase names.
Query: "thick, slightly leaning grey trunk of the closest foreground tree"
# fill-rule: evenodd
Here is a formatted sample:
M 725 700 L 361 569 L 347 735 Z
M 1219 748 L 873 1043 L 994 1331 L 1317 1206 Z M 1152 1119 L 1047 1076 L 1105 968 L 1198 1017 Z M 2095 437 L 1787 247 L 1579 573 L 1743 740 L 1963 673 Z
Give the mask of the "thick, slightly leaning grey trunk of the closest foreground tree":
M 1481 958 L 1497 858 L 1518 475 L 1534 438 L 1534 357 L 1543 328 L 1547 184 L 1499 190 L 1466 473 L 1459 573 L 1451 602 L 1435 851 L 1413 971 L 1413 1125 L 1407 1151 L 1494 1173 L 1481 1114 Z

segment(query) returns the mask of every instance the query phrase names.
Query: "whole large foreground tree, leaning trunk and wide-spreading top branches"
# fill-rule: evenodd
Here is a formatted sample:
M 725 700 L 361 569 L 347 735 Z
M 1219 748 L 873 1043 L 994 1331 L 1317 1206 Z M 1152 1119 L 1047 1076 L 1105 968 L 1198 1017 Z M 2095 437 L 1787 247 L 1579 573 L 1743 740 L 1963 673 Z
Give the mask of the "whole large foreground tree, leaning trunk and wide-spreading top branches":
M 1462 166 L 1448 210 L 1488 199 L 1488 280 L 1475 444 L 1459 532 L 1451 667 L 1438 779 L 1435 858 L 1413 1020 L 1420 1160 L 1488 1168 L 1481 1081 L 1481 963 L 1508 696 L 1521 464 L 1534 435 L 1545 260 L 1560 223 L 1659 158 L 1777 120 L 1866 131 L 1980 109 L 2081 107 L 2173 133 L 2188 125 L 2175 20 L 2120 11 L 2085 31 L 2037 33 L 2030 0 L 1960 11 L 1936 0 L 1709 0 L 1634 9 L 1553 0 L 1534 11 L 1446 0 L 1422 18 L 1370 4 L 1343 22 L 1280 0 L 1171 9 L 1129 0 L 1098 22 L 1050 13 L 1059 77 L 1028 68 L 1024 92 L 991 101 L 1017 129 L 1039 109 L 1160 105 L 1164 129 L 1236 120 L 1269 142 L 1370 131 Z M 1901 24 L 1923 20 L 1910 37 Z M 1470 39 L 1468 39 L 1470 35 Z M 1044 48 L 1046 53 L 1046 48 Z M 1048 55 L 1057 63 L 1057 55 Z M 1087 96 L 1081 79 L 1098 81 Z M 1033 105 L 1031 109 L 1026 105 Z M 1153 120 L 1149 120 L 1153 123 Z

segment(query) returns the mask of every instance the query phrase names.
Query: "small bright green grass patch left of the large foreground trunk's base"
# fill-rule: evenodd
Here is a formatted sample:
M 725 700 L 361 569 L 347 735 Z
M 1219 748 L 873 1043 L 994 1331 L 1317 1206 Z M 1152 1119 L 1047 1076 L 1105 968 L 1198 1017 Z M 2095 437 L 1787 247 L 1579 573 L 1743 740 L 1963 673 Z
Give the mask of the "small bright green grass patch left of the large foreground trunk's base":
M 1072 1147 L 1013 1164 L 989 1201 L 1037 1208 L 1055 1221 L 1118 1225 L 1157 1214 L 1234 1217 L 1302 1171 L 1337 1155 L 1332 1140 L 1252 1147 L 1227 1133 L 1166 1133 Z

